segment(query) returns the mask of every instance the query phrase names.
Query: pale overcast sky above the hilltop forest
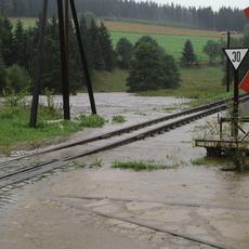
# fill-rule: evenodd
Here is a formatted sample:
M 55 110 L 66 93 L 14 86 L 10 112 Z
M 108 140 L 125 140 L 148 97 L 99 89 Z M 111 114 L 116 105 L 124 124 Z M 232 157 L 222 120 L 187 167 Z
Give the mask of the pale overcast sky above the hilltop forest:
M 146 1 L 146 0 L 136 0 Z M 178 3 L 184 6 L 212 6 L 213 10 L 219 10 L 221 6 L 232 6 L 246 9 L 249 6 L 249 0 L 153 0 L 158 3 Z

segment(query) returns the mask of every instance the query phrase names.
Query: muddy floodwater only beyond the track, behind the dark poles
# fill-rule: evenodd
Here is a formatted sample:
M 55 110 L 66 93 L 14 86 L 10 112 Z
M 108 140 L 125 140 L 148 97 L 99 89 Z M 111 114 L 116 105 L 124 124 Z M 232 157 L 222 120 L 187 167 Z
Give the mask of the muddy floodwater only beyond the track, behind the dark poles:
M 187 100 L 175 97 L 146 97 L 136 96 L 132 93 L 95 93 L 96 110 L 100 115 L 112 118 L 114 115 L 124 115 L 128 121 L 143 119 L 143 117 L 160 116 L 169 109 L 183 108 Z M 47 103 L 44 96 L 41 102 Z M 55 96 L 56 105 L 62 106 L 62 96 Z M 91 114 L 89 96 L 87 93 L 79 93 L 70 96 L 70 107 L 73 117 L 79 114 Z

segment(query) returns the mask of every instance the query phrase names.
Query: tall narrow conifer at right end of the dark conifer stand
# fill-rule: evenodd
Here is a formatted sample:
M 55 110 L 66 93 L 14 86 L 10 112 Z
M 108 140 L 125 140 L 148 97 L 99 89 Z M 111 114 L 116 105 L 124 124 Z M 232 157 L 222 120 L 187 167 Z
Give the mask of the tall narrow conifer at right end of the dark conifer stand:
M 116 56 L 110 35 L 103 23 L 101 23 L 101 27 L 99 28 L 99 39 L 102 49 L 102 56 L 104 60 L 105 69 L 112 70 L 114 69 L 116 64 Z

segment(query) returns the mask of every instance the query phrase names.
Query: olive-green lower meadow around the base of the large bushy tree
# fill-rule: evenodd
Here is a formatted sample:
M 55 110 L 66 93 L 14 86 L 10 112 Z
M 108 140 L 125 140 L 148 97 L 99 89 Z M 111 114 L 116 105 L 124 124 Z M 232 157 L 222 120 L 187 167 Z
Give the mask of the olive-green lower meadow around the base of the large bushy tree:
M 193 99 L 193 105 L 225 97 L 222 86 L 223 70 L 221 66 L 202 66 L 200 68 L 180 69 L 181 87 L 179 89 L 141 92 L 144 96 L 176 96 Z M 93 77 L 95 92 L 122 92 L 127 90 L 128 71 L 96 71 Z

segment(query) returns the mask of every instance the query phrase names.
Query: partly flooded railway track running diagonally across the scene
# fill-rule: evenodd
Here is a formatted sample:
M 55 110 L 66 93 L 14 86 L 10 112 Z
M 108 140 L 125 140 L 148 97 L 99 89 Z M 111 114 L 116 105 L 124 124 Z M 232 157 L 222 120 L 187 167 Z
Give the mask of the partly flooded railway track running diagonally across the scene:
M 248 95 L 240 97 L 240 102 L 246 102 L 248 100 Z M 62 168 L 70 160 L 97 154 L 157 134 L 162 134 L 197 119 L 222 112 L 227 108 L 227 101 L 228 100 L 223 100 L 209 105 L 202 105 L 0 163 L 0 188 Z M 83 145 L 87 148 L 84 148 Z M 74 148 L 74 153 L 68 153 L 68 149 L 71 148 Z M 54 154 L 58 153 L 61 154 L 60 156 L 54 156 Z M 47 156 L 44 157 L 44 155 Z M 48 155 L 49 159 L 44 159 L 48 158 Z

